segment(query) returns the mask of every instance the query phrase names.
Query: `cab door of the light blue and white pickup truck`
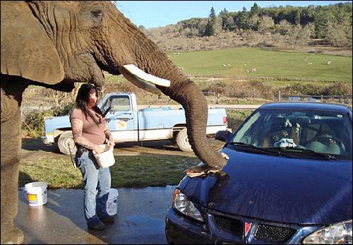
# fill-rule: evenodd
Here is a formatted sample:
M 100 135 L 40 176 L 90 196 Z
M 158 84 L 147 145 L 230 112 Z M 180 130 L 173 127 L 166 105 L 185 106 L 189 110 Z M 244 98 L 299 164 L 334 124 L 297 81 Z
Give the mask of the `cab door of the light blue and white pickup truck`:
M 137 141 L 136 119 L 133 113 L 133 103 L 129 95 L 111 95 L 102 105 L 104 112 L 110 106 L 105 116 L 109 130 L 116 142 Z

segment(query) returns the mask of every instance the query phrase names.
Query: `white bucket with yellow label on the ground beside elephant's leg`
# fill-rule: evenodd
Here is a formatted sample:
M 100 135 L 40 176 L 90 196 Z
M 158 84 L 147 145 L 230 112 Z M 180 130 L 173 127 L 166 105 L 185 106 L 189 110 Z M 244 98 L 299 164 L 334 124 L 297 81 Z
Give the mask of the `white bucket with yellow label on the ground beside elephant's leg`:
M 47 203 L 47 182 L 37 181 L 25 184 L 25 198 L 30 206 L 40 206 Z

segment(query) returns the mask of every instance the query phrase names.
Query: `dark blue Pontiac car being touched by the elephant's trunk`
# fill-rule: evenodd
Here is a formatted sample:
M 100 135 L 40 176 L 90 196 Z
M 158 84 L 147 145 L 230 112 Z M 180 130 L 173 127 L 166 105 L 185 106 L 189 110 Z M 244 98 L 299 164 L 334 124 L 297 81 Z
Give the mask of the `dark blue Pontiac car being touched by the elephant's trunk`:
M 227 165 L 180 181 L 169 244 L 352 244 L 349 107 L 264 104 L 216 138 Z

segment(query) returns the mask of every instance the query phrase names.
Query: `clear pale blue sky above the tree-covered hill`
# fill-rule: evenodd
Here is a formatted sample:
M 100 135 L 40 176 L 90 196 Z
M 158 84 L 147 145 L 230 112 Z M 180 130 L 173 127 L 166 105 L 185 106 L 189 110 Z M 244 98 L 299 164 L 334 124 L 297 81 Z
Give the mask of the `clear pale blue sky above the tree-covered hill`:
M 177 24 L 189 18 L 205 18 L 211 7 L 218 15 L 224 8 L 229 12 L 250 11 L 254 3 L 261 8 L 272 6 L 325 6 L 347 1 L 115 1 L 119 11 L 137 26 L 157 28 Z

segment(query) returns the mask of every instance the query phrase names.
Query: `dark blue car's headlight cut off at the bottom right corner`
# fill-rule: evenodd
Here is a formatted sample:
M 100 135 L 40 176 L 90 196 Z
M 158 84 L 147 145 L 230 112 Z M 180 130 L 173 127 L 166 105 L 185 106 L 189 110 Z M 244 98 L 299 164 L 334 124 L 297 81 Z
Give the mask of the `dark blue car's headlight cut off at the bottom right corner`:
M 352 244 L 352 220 L 340 222 L 311 233 L 304 244 Z

